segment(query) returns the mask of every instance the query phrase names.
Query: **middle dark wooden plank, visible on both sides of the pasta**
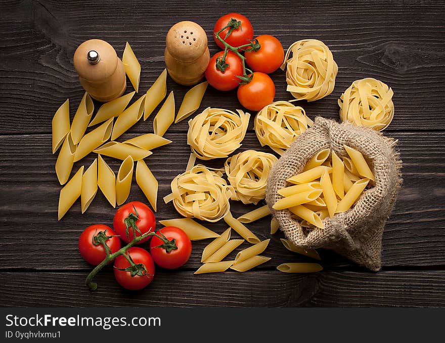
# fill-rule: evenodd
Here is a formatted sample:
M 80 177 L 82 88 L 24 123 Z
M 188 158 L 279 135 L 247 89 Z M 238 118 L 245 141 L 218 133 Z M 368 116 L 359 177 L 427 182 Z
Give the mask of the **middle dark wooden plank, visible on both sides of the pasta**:
M 383 235 L 383 263 L 385 266 L 445 265 L 445 231 L 443 186 L 445 133 L 391 133 L 399 139 L 404 161 L 404 187 Z M 129 138 L 127 134 L 122 139 Z M 184 171 L 189 148 L 186 134 L 171 132 L 166 135 L 173 143 L 154 150 L 147 163 L 158 178 L 158 220 L 176 218 L 172 204 L 163 205 L 162 197 L 170 191 L 171 179 Z M 241 150 L 260 150 L 255 134 L 248 132 Z M 268 148 L 262 148 L 269 151 Z M 50 135 L 10 135 L 0 137 L 0 268 L 70 268 L 86 269 L 77 252 L 77 239 L 88 225 L 112 225 L 114 209 L 98 191 L 96 199 L 85 214 L 80 214 L 78 200 L 67 215 L 57 221 L 58 195 L 61 189 L 54 172 L 57 156 L 51 154 Z M 76 163 L 72 174 L 82 163 L 87 167 L 94 154 Z M 117 172 L 120 161 L 107 161 Z M 221 167 L 224 160 L 205 161 L 207 166 Z M 128 201 L 144 200 L 144 195 L 133 181 Z M 255 208 L 232 202 L 235 216 Z M 226 229 L 224 223 L 204 223 L 216 232 Z M 260 239 L 270 237 L 269 219 L 248 225 Z M 274 236 L 266 256 L 273 259 L 264 267 L 301 259 L 287 252 Z M 194 251 L 187 268 L 198 268 L 202 249 L 209 240 L 194 242 Z M 245 245 L 239 247 L 242 249 Z M 325 265 L 348 265 L 333 253 L 322 252 Z

